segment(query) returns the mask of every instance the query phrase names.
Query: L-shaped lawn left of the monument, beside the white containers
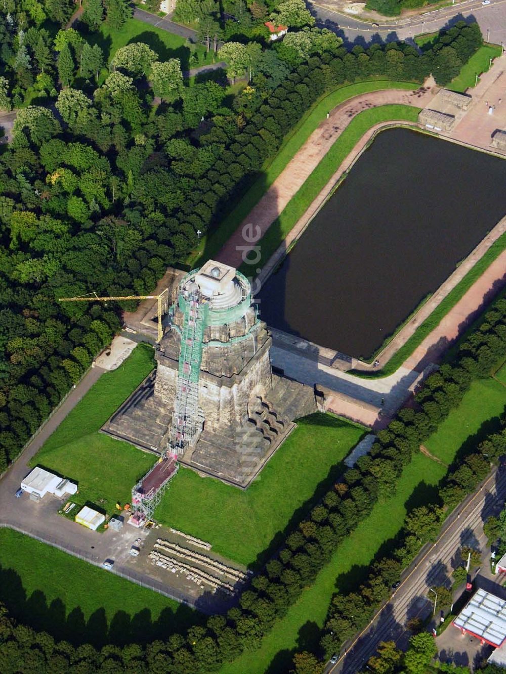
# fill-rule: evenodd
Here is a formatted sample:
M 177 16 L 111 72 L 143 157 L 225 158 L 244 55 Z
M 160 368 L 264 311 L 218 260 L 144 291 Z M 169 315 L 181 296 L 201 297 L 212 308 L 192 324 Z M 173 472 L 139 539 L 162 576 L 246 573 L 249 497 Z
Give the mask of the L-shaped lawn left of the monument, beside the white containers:
M 105 372 L 30 460 L 78 483 L 80 495 L 105 510 L 130 503 L 131 489 L 154 464 L 151 454 L 99 433 L 101 426 L 152 370 L 153 350 L 139 344 Z

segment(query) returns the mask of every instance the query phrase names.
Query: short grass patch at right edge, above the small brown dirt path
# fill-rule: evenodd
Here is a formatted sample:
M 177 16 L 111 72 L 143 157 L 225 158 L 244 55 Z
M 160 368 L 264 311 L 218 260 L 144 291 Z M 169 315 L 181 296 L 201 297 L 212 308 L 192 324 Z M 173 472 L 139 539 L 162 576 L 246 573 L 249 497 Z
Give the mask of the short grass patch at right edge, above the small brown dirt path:
M 506 369 L 503 367 L 506 378 Z M 498 377 L 499 378 L 499 377 Z M 484 422 L 499 417 L 506 406 L 506 388 L 492 377 L 474 379 L 461 404 L 451 410 L 439 429 L 432 433 L 425 446 L 430 454 L 449 464 L 455 452 L 477 433 L 488 435 L 492 429 L 480 431 Z M 497 430 L 497 429 L 496 429 Z M 484 439 L 480 437 L 474 446 Z

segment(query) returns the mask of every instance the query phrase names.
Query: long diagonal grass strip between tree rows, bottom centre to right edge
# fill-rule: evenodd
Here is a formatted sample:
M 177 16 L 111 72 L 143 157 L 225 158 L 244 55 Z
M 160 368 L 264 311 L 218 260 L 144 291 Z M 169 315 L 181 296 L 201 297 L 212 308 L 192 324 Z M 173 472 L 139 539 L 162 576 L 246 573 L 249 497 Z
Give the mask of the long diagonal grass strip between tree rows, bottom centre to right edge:
M 487 421 L 493 418 L 497 421 L 505 405 L 506 388 L 499 382 L 474 381 L 459 408 L 450 412 L 439 431 L 425 443 L 426 447 L 434 456 L 450 463 L 463 443 L 479 442 L 489 432 L 492 422 Z M 360 583 L 378 549 L 402 528 L 408 508 L 437 499 L 437 485 L 446 472 L 442 464 L 415 454 L 404 468 L 395 494 L 383 503 L 376 503 L 370 516 L 339 545 L 315 582 L 262 640 L 261 647 L 224 665 L 221 674 L 287 671 L 293 649 L 316 649 L 332 594 L 336 589 L 347 591 Z

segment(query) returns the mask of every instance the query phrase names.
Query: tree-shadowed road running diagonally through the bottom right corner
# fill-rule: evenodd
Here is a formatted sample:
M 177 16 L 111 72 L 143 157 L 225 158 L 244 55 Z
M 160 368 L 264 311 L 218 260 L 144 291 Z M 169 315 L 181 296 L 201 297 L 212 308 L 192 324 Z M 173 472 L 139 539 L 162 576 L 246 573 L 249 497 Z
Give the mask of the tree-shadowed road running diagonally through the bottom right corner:
M 505 496 L 506 474 L 494 471 L 474 496 L 455 509 L 445 522 L 437 542 L 420 553 L 399 588 L 395 590 L 391 601 L 376 613 L 370 625 L 347 646 L 336 665 L 328 667 L 327 672 L 355 674 L 364 667 L 382 641 L 393 640 L 401 648 L 405 647 L 407 620 L 417 615 L 426 617 L 432 611 L 432 603 L 426 599 L 428 587 L 447 581 L 451 573 L 451 561 L 463 543 L 480 545 L 483 541 L 483 520 L 497 512 Z M 483 567 L 486 565 L 488 562 L 485 560 Z M 493 580 L 490 574 L 482 572 L 477 576 L 476 584 L 490 589 Z

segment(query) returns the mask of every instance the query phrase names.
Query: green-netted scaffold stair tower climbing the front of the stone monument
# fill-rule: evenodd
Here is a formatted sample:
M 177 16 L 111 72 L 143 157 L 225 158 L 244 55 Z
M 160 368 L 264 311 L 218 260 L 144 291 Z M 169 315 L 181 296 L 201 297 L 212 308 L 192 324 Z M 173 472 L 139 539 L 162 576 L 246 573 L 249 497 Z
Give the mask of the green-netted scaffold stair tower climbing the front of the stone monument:
M 194 444 L 198 431 L 198 379 L 208 310 L 207 299 L 198 288 L 193 290 L 184 311 L 171 429 L 170 448 L 177 454 Z

